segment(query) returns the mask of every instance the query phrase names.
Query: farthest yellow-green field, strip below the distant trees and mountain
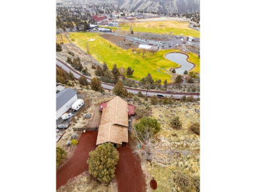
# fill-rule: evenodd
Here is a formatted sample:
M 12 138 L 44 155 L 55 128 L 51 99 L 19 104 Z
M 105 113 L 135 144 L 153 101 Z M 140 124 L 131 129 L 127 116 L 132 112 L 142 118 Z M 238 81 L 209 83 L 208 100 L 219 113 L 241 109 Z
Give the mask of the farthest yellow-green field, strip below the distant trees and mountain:
M 167 33 L 172 35 L 183 34 L 184 36 L 200 37 L 200 31 L 189 28 L 189 22 L 182 21 L 160 21 L 160 22 L 127 22 L 121 25 L 121 30 L 149 32 L 149 33 Z

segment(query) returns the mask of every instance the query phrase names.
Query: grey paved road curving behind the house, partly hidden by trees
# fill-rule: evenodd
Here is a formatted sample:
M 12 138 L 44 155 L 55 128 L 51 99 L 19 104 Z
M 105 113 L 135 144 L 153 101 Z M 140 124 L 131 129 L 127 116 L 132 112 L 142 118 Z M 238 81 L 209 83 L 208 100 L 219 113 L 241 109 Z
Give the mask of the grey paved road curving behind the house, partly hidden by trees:
M 70 71 L 71 71 L 74 74 L 74 77 L 76 79 L 78 79 L 82 75 L 81 73 L 79 73 L 78 71 L 76 71 L 72 67 L 69 67 L 67 64 L 64 64 L 64 62 L 61 62 L 58 59 L 56 59 L 56 66 L 62 67 L 62 69 L 64 69 L 68 73 L 70 73 Z M 87 77 L 87 81 L 91 82 L 91 79 L 89 77 Z M 106 88 L 108 90 L 112 90 L 114 88 L 114 85 L 107 84 L 107 83 L 101 83 L 101 85 L 102 85 L 103 88 Z M 146 95 L 146 90 L 129 88 L 129 87 L 125 87 L 125 88 L 127 89 L 128 92 L 131 92 L 133 94 L 138 94 L 138 92 L 141 91 L 143 95 Z M 186 96 L 193 95 L 195 99 L 200 97 L 200 94 L 197 94 L 197 93 L 191 93 L 190 94 L 190 93 L 156 92 L 156 91 L 148 91 L 148 96 L 154 96 L 154 95 L 157 95 L 158 93 L 164 94 L 165 96 L 167 96 L 167 98 L 169 98 L 171 95 L 173 95 L 173 97 L 177 98 L 177 99 L 180 99 L 184 95 L 186 95 Z

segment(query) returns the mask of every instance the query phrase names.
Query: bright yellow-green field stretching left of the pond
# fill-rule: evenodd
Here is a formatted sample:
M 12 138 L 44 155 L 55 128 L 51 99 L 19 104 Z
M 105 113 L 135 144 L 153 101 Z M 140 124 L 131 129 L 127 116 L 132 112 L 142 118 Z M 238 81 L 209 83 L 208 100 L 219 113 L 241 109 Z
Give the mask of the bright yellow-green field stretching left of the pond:
M 95 39 L 95 41 L 89 41 L 89 39 Z M 110 69 L 112 69 L 114 64 L 117 64 L 117 67 L 132 67 L 135 69 L 135 72 L 131 78 L 136 80 L 140 80 L 150 73 L 153 79 L 161 79 L 162 82 L 167 79 L 167 82 L 170 83 L 171 75 L 159 73 L 157 69 L 179 67 L 179 64 L 165 59 L 163 55 L 167 52 L 180 52 L 180 50 L 160 50 L 151 55 L 145 54 L 143 58 L 142 54 L 134 53 L 134 50 L 124 50 L 100 37 L 100 33 L 70 33 L 70 40 L 86 52 L 87 42 L 89 45 L 89 54 L 102 64 L 106 62 Z

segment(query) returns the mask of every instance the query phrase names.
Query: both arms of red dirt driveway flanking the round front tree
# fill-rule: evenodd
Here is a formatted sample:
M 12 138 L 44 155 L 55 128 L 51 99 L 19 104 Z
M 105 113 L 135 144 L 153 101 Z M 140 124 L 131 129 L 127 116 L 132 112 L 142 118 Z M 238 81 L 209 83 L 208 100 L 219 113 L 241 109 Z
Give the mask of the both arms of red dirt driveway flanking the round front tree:
M 75 152 L 70 160 L 56 172 L 56 189 L 64 185 L 68 180 L 89 170 L 86 163 L 89 152 L 96 148 L 97 131 L 82 133 Z M 86 147 L 85 147 L 86 146 Z M 133 154 L 130 144 L 117 149 L 119 161 L 116 166 L 116 180 L 119 192 L 144 192 L 146 183 L 139 159 Z

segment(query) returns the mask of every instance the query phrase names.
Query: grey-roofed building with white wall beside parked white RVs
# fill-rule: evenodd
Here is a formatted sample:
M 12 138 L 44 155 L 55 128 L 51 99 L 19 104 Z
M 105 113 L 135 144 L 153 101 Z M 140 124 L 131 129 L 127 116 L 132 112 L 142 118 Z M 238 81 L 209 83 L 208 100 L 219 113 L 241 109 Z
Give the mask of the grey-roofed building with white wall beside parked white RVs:
M 64 88 L 56 94 L 56 119 L 68 111 L 77 100 L 77 92 L 71 88 Z

